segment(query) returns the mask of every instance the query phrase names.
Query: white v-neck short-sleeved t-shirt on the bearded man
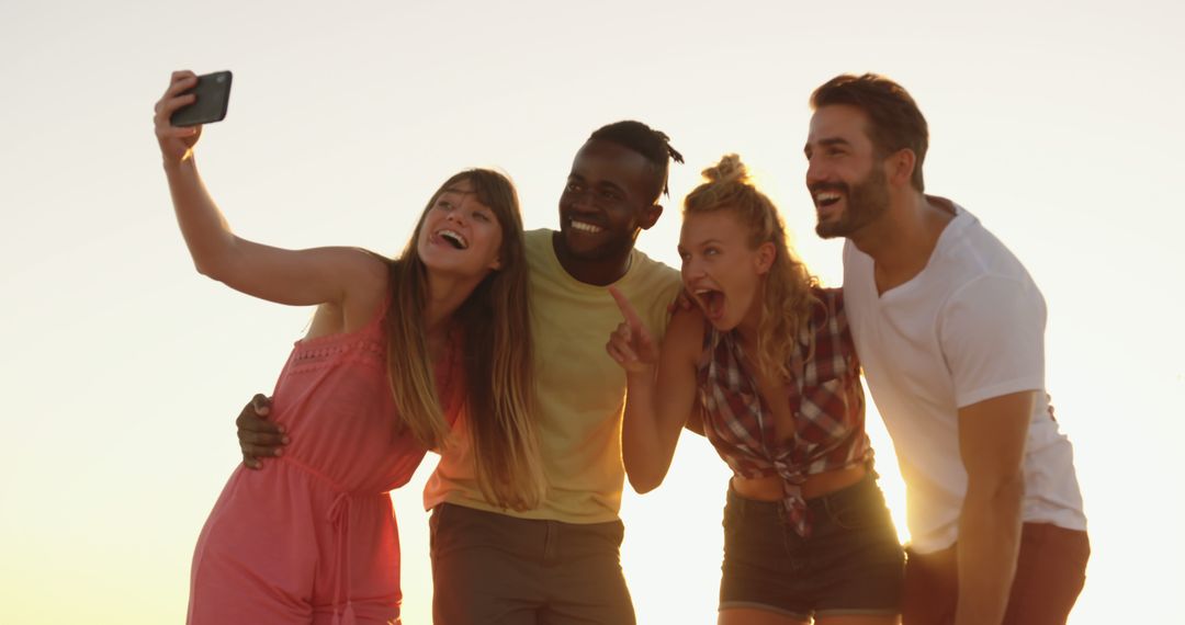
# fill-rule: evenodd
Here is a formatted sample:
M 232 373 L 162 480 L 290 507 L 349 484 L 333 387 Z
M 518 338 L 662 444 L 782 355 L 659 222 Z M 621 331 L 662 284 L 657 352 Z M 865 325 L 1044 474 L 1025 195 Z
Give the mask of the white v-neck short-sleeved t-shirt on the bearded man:
M 925 268 L 877 294 L 873 260 L 844 246 L 844 302 L 877 410 L 897 447 L 912 548 L 957 540 L 967 494 L 959 408 L 1037 391 L 1024 520 L 1084 530 L 1074 450 L 1045 395 L 1045 299 L 1012 252 L 955 206 Z

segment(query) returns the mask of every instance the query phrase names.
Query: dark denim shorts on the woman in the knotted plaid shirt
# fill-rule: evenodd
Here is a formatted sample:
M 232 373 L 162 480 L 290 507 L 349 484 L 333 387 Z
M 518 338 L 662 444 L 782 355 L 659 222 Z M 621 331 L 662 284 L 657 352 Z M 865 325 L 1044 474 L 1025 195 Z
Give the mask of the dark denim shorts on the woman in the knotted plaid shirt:
M 901 612 L 904 552 L 873 472 L 807 500 L 811 536 L 781 502 L 729 489 L 724 507 L 720 610 L 756 608 L 798 620 Z

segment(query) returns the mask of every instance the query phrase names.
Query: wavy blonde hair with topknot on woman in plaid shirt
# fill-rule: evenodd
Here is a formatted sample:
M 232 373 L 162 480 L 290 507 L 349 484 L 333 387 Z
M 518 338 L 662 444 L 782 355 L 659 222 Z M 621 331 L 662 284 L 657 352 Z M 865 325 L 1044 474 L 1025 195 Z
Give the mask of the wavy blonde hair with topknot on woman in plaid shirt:
M 704 169 L 703 175 L 706 181 L 683 202 L 684 218 L 729 211 L 749 231 L 750 250 L 774 244 L 774 263 L 761 286 L 756 365 L 764 372 L 789 378 L 789 362 L 816 301 L 811 289 L 819 281 L 790 250 L 777 207 L 752 183 L 739 156 L 725 154 L 720 162 Z M 814 352 L 809 333 L 807 341 L 809 359 Z

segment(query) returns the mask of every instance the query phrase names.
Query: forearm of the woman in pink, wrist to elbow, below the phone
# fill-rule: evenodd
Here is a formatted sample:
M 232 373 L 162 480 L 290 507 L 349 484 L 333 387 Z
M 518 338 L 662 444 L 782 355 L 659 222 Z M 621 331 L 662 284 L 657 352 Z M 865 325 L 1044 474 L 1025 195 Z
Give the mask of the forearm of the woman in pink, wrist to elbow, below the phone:
M 214 279 L 233 257 L 236 237 L 198 174 L 192 153 L 165 163 L 177 223 L 197 270 Z

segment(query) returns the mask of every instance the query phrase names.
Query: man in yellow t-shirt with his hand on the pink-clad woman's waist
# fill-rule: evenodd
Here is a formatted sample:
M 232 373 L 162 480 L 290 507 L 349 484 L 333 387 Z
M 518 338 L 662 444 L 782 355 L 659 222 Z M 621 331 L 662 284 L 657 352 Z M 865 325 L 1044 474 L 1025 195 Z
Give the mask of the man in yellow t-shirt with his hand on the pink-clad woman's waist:
M 646 124 L 597 129 L 572 161 L 559 231 L 526 233 L 547 495 L 521 513 L 487 502 L 474 479 L 467 429 L 457 424 L 424 488 L 437 625 L 635 621 L 617 516 L 626 376 L 604 352 L 621 312 L 606 288 L 620 289 L 661 339 L 679 273 L 634 241 L 662 213 L 671 159 L 683 162 L 667 136 Z M 278 432 L 251 407 L 238 419 L 248 466 L 281 446 Z

